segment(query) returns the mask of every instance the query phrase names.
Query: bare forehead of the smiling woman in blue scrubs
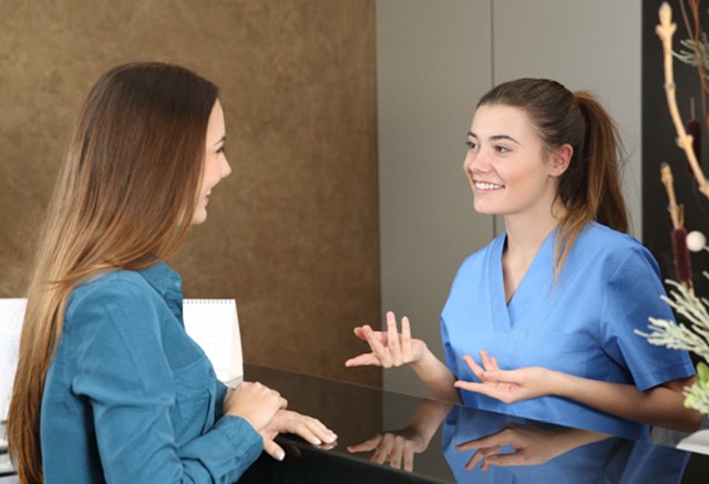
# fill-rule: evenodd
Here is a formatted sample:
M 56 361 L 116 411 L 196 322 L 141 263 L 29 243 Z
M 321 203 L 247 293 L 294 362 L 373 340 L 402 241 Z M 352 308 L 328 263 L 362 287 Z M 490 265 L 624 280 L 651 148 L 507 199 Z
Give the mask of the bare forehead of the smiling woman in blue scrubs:
M 475 111 L 471 132 L 477 137 L 508 135 L 517 138 L 536 137 L 526 112 L 504 104 L 484 104 Z

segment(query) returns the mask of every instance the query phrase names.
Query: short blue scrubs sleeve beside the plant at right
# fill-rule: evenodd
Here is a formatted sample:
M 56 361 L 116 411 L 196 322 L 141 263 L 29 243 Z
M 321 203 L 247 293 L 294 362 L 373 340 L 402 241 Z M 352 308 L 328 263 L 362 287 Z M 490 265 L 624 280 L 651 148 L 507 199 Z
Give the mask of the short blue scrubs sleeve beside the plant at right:
M 635 332 L 645 330 L 650 317 L 674 320 L 670 307 L 660 299 L 665 289 L 649 251 L 633 247 L 612 269 L 600 318 L 604 350 L 629 370 L 639 390 L 693 375 L 686 351 L 650 344 Z

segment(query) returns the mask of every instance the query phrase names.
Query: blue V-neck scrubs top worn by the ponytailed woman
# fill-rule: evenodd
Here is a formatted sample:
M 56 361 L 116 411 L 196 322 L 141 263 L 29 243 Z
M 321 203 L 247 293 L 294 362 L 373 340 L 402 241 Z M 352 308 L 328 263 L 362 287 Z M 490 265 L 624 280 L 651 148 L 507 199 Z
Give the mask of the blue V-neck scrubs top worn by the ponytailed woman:
M 685 351 L 648 343 L 648 317 L 672 319 L 657 264 L 636 239 L 603 225 L 579 234 L 554 281 L 554 233 L 544 241 L 510 305 L 502 253 L 505 234 L 461 266 L 441 315 L 445 360 L 456 378 L 476 381 L 462 360 L 484 349 L 503 370 L 540 365 L 647 390 L 693 374 Z M 647 425 L 571 400 L 543 397 L 503 403 L 462 391 L 470 406 L 567 426 L 647 439 Z

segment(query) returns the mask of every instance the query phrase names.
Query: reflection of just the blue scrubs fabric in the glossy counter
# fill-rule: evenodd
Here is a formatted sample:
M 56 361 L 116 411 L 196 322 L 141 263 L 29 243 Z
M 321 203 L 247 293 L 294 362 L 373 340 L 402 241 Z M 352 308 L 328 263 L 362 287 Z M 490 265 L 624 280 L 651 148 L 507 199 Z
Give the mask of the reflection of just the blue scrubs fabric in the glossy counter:
M 443 453 L 458 483 L 678 483 L 690 457 L 689 452 L 662 447 L 649 442 L 605 439 L 580 445 L 538 465 L 490 466 L 481 464 L 466 471 L 474 450 L 459 451 L 456 445 L 499 433 L 506 424 L 535 426 L 511 415 L 455 406 L 443 424 Z M 547 429 L 552 430 L 552 429 Z M 556 429 L 555 431 L 562 431 Z M 543 442 L 532 444 L 533 447 Z M 534 451 L 534 449 L 533 449 Z M 511 446 L 503 447 L 512 452 Z

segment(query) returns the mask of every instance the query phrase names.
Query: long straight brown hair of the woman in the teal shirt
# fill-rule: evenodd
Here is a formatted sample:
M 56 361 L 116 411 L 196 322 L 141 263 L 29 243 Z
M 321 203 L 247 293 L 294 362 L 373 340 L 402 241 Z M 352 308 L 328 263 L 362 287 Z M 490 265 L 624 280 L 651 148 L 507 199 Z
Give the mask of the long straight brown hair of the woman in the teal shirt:
M 172 255 L 192 223 L 217 87 L 163 63 L 133 63 L 91 90 L 40 238 L 8 442 L 21 482 L 42 482 L 40 408 L 66 300 L 105 270 L 140 269 Z

